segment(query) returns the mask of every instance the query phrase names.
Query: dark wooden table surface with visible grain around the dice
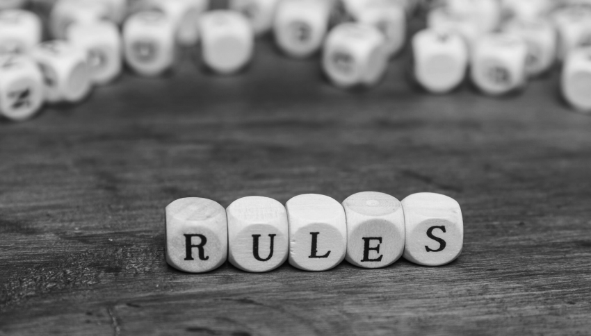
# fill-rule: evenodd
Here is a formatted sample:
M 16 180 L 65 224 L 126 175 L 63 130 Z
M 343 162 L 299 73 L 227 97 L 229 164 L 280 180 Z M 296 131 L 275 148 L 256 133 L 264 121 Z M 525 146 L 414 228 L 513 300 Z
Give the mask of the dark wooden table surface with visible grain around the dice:
M 185 53 L 81 105 L 0 124 L 0 335 L 590 335 L 591 117 L 558 73 L 503 99 L 428 95 L 396 58 L 372 90 L 257 44 L 236 76 Z M 185 274 L 164 207 L 248 195 L 342 201 L 364 190 L 458 200 L 464 251 L 444 267 L 343 262 Z

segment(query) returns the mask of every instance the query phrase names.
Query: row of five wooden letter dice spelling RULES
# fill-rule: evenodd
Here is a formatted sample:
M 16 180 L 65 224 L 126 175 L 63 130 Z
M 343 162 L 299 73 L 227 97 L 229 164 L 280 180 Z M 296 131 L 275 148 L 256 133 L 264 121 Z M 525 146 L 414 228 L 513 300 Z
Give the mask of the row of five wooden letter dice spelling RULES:
M 170 266 L 203 273 L 228 259 L 249 272 L 286 260 L 305 271 L 325 271 L 343 259 L 380 268 L 401 256 L 425 266 L 452 262 L 462 252 L 460 205 L 442 194 L 412 194 L 402 202 L 380 192 L 359 192 L 342 205 L 303 194 L 282 203 L 261 196 L 227 209 L 209 199 L 177 199 L 165 208 L 165 255 Z

